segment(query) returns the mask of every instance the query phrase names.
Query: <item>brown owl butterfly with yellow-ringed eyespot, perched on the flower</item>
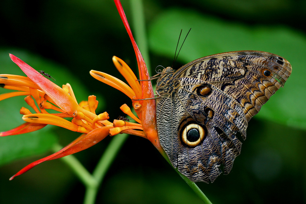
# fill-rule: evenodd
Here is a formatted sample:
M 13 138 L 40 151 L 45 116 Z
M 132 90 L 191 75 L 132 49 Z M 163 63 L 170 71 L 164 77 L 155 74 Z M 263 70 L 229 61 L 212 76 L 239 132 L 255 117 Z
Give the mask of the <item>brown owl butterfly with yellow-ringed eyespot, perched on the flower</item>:
M 194 182 L 213 182 L 221 169 L 228 174 L 248 121 L 291 70 L 284 58 L 261 51 L 215 54 L 177 71 L 164 69 L 156 83 L 157 129 L 174 168 Z

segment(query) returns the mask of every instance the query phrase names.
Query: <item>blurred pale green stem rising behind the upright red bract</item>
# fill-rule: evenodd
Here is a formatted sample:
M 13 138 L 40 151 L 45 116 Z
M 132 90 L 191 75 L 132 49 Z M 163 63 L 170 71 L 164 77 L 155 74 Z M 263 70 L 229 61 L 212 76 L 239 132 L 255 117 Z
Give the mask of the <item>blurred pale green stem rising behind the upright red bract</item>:
M 150 57 L 149 57 L 149 49 L 148 49 L 148 40 L 146 34 L 146 26 L 144 19 L 144 8 L 142 4 L 142 0 L 131 0 L 131 13 L 132 13 L 132 27 L 133 27 L 133 35 L 135 36 L 136 43 L 141 51 L 142 56 L 144 57 L 144 61 L 146 62 L 147 69 L 149 74 L 151 74 L 150 69 Z

